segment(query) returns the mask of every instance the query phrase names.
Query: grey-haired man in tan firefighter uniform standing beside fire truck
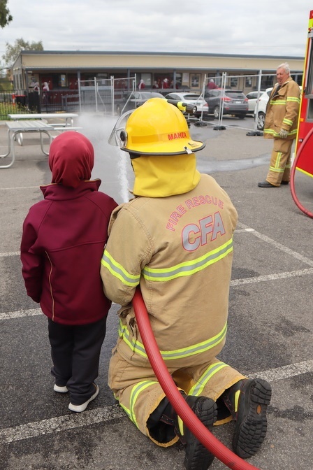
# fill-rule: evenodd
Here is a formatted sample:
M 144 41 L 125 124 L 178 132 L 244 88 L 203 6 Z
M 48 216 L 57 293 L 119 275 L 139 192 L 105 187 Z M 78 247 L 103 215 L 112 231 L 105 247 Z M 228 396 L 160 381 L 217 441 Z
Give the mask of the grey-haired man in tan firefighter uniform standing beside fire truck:
M 289 64 L 277 67 L 277 83 L 266 106 L 264 137 L 272 138 L 274 145 L 266 180 L 259 187 L 288 185 L 291 173 L 291 148 L 297 136 L 300 108 L 300 88 L 290 76 Z

